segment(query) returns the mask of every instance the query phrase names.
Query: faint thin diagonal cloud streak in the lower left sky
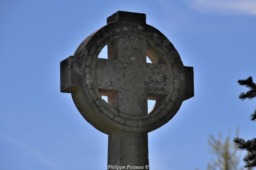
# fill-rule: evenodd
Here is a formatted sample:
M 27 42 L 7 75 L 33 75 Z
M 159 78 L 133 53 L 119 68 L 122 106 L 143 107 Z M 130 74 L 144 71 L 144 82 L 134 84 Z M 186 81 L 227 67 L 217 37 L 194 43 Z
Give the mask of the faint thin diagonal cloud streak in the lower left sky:
M 14 139 L 14 138 L 11 138 L 9 136 L 6 136 L 6 135 L 2 134 L 1 132 L 0 132 L 0 138 L 21 148 L 22 150 L 27 152 L 30 156 L 35 158 L 41 164 L 43 164 L 49 168 L 52 168 L 52 169 L 59 169 L 59 167 L 52 160 L 50 160 L 45 155 L 43 155 L 42 152 L 40 152 L 37 148 L 34 148 L 34 147 L 26 144 L 25 142 L 22 142 L 22 141 Z

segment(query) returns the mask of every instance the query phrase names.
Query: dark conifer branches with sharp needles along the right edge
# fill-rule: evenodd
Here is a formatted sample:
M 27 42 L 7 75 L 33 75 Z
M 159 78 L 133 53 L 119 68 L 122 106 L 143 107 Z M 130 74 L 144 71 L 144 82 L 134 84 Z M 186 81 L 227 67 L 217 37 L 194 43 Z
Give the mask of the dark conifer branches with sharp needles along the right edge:
M 245 99 L 253 100 L 254 98 L 256 98 L 256 84 L 253 82 L 252 77 L 248 77 L 244 80 L 238 80 L 238 84 L 250 89 L 246 93 L 242 92 L 239 95 L 239 99 L 243 101 Z M 254 113 L 250 116 L 250 119 L 251 121 L 256 120 L 256 109 L 254 110 Z M 242 138 L 236 137 L 234 138 L 233 142 L 236 143 L 237 147 L 240 150 L 247 151 L 246 155 L 243 158 L 243 161 L 245 162 L 244 167 L 247 169 L 256 167 L 256 138 L 245 141 Z

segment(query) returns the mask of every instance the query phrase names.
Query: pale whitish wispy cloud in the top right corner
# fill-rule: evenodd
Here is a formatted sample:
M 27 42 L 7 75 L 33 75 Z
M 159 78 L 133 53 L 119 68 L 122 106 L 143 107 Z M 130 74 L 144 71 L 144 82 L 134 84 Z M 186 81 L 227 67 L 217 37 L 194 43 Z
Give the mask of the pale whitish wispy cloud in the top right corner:
M 256 0 L 192 0 L 199 12 L 256 15 Z

